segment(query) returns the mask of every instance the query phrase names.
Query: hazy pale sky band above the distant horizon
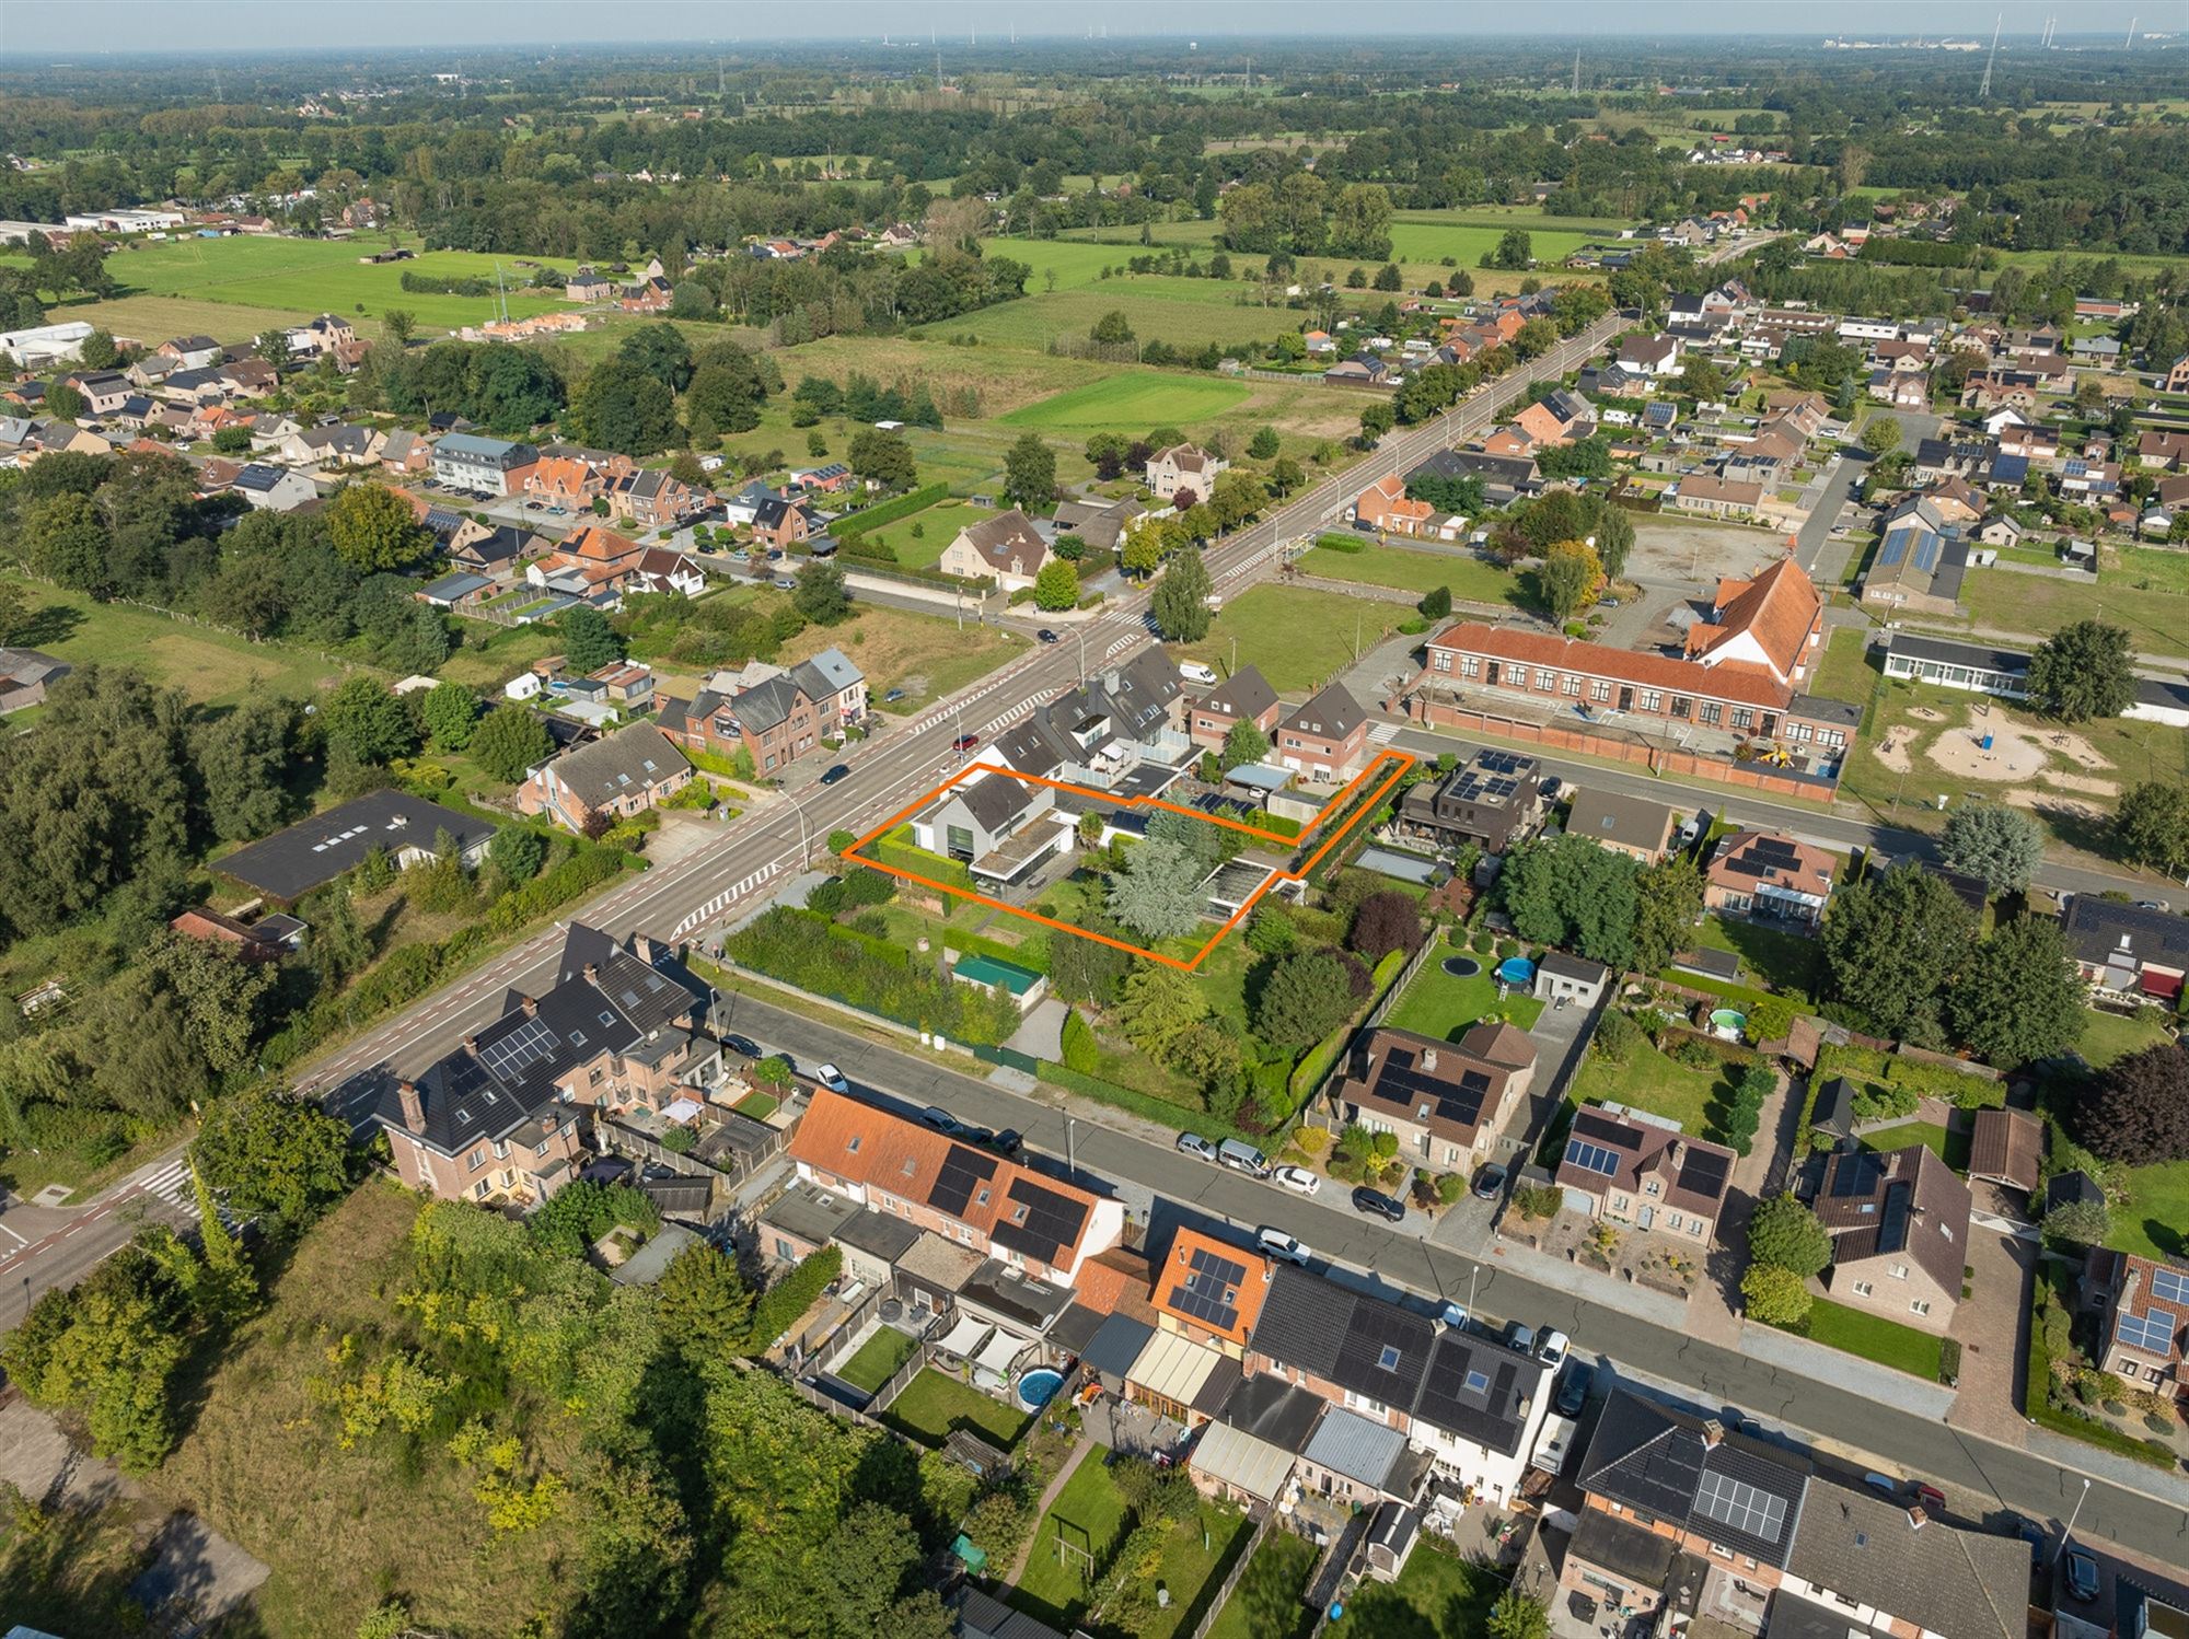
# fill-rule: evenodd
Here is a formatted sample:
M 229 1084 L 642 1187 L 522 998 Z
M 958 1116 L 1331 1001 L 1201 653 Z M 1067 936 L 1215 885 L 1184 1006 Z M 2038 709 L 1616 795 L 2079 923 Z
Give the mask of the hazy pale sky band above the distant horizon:
M 2136 0 L 2097 7 L 2020 4 L 2005 9 L 2007 37 L 2036 37 L 2045 20 L 2058 18 L 2060 37 L 2112 35 L 2126 39 L 2136 22 L 2139 33 L 2156 33 L 2169 22 L 2165 7 L 2143 0 L 2147 15 L 2136 18 Z M 298 7 L 271 0 L 83 0 L 74 7 L 7 7 L 0 11 L 0 61 L 7 55 L 57 53 L 83 59 L 131 57 L 140 53 L 311 53 L 311 50 L 556 50 L 584 46 L 670 46 L 670 44 L 880 44 L 882 37 L 919 42 L 933 28 L 939 46 L 968 44 L 978 37 L 983 48 L 1007 42 L 1018 28 L 1022 44 L 1042 39 L 1084 39 L 1088 26 L 1108 28 L 1114 42 L 1125 39 L 1348 39 L 1348 37 L 1537 37 L 1576 39 L 1589 35 L 1622 39 L 1661 37 L 1740 37 L 1784 35 L 1791 39 L 1913 39 L 1913 37 L 1983 37 L 1990 39 L 2001 7 L 1994 0 L 1931 0 L 1909 7 L 1893 0 L 1845 0 L 1819 11 L 1802 0 L 1758 0 L 1731 20 L 1718 7 L 1668 7 L 1637 15 L 1633 7 L 1611 0 L 1570 0 L 1556 13 L 1556 26 L 1541 20 L 1521 22 L 1513 13 L 1486 11 L 1458 18 L 1440 28 L 1425 28 L 1418 7 L 1390 0 L 1368 0 L 1333 13 L 1329 4 L 1309 0 L 1114 0 L 1055 20 L 1049 7 L 1009 4 L 1007 0 L 948 0 L 943 4 L 904 7 L 891 0 L 841 0 L 830 11 L 830 26 L 779 28 L 771 9 L 696 4 L 665 0 L 655 7 L 602 9 L 576 0 L 383 0 L 366 9 Z M 309 18 L 304 37 L 285 37 L 289 26 Z M 1342 18 L 1342 22 L 1333 22 Z M 1731 26 L 1729 26 L 1731 24 Z M 127 44 L 123 44 L 127 42 Z

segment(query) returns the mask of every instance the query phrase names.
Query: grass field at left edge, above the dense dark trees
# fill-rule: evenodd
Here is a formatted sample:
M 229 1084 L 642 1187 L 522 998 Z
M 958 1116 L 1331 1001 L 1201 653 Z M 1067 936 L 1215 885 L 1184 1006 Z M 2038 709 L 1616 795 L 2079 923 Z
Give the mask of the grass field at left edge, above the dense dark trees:
M 35 580 L 18 584 L 31 617 L 20 639 L 24 648 L 77 665 L 134 665 L 153 683 L 182 689 L 199 702 L 230 705 L 254 689 L 309 700 L 348 670 L 341 661 L 285 643 L 252 643 L 149 608 L 94 604 Z M 13 722 L 22 724 L 24 718 Z

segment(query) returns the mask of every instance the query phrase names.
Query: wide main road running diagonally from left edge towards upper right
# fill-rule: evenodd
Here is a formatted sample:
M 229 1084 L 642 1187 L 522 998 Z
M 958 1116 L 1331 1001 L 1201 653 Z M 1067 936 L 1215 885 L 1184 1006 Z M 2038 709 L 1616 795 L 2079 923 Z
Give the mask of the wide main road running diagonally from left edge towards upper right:
M 1618 335 L 1622 324 L 1615 313 L 1605 315 L 1583 335 L 1537 359 L 1530 376 L 1548 379 L 1580 368 Z M 1364 486 L 1386 473 L 1416 466 L 1436 449 L 1475 438 L 1491 425 L 1497 405 L 1513 387 L 1513 381 L 1478 387 L 1445 416 L 1394 431 L 1346 473 L 1324 479 L 1261 523 L 1208 547 L 1208 573 L 1217 589 L 1224 595 L 1246 591 L 1274 569 L 1281 543 L 1320 530 Z M 810 768 L 792 775 L 803 783 L 790 792 L 790 801 L 751 807 L 722 829 L 718 842 L 615 884 L 576 915 L 617 934 L 648 932 L 657 939 L 692 939 L 722 926 L 806 869 L 827 847 L 832 829 L 862 829 L 895 814 L 939 775 L 961 766 L 965 759 L 950 751 L 957 735 L 976 733 L 989 740 L 1003 724 L 1062 694 L 1086 672 L 1143 648 L 1149 641 L 1147 602 L 1147 591 L 1127 593 L 1101 619 L 1066 632 L 1062 643 L 1020 654 L 908 722 L 887 722 L 880 733 L 845 755 L 852 772 L 836 786 L 816 786 L 823 759 L 810 759 Z M 534 934 L 486 967 L 464 974 L 311 1063 L 298 1077 L 298 1085 L 328 1094 L 331 1107 L 355 1120 L 361 1103 L 370 1099 L 370 1088 L 361 1079 L 366 1072 L 412 1070 L 427 1063 L 455 1046 L 466 1031 L 497 1018 L 508 991 L 536 993 L 552 987 L 560 948 L 560 926 Z M 348 1096 L 344 1088 L 350 1090 Z M 147 1166 L 144 1175 L 171 1171 L 177 1158 L 179 1147 Z M 155 1190 L 125 1182 L 61 1232 L 39 1234 L 26 1245 L 9 1241 L 13 1252 L 0 1252 L 0 1326 L 13 1324 L 46 1287 L 79 1280 L 99 1258 L 127 1243 L 136 1232 L 131 1212 L 147 1210 L 166 1208 Z

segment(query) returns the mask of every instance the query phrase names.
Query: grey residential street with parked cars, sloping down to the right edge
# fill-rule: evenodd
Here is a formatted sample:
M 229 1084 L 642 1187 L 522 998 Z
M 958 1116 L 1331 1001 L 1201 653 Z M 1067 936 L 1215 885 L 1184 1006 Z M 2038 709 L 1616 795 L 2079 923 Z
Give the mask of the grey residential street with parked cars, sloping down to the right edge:
M 751 996 L 731 998 L 731 1022 L 762 1046 L 788 1050 L 799 1063 L 834 1061 L 865 1096 L 880 1103 L 897 1103 L 906 1112 L 941 1105 L 983 1127 L 1016 1127 L 1046 1155 L 1066 1153 L 1062 1094 L 1046 1085 L 1033 1096 L 1020 1096 L 924 1059 L 917 1048 L 880 1046 Z M 1313 1247 L 1318 1265 L 1327 1260 L 1342 1278 L 1366 1276 L 1405 1293 L 1458 1302 L 1467 1302 L 1473 1291 L 1478 1313 L 1556 1326 L 1583 1355 L 1609 1357 L 1631 1372 L 1681 1383 L 1705 1400 L 1808 1431 L 1843 1453 L 1867 1453 L 1878 1468 L 1961 1486 L 2038 1521 L 2062 1523 L 2082 1492 L 2080 1475 L 2027 1451 L 1539 1285 L 1504 1267 L 1495 1254 L 1471 1258 L 1364 1219 L 1348 1210 L 1344 1193 L 1331 1184 L 1307 1201 L 1272 1184 L 1189 1160 L 1169 1147 L 1169 1134 L 1149 1129 L 1147 1136 L 1132 1136 L 1088 1118 L 1073 1123 L 1070 1155 L 1079 1182 L 1101 1190 L 1116 1182 L 1114 1193 L 1134 1214 L 1154 1204 L 1158 1230 L 1195 1221 L 1241 1230 L 1276 1225 Z M 2154 1477 L 2152 1484 L 2165 1481 Z M 2189 1565 L 2189 1510 L 2104 1479 L 2093 1479 L 2075 1534 Z

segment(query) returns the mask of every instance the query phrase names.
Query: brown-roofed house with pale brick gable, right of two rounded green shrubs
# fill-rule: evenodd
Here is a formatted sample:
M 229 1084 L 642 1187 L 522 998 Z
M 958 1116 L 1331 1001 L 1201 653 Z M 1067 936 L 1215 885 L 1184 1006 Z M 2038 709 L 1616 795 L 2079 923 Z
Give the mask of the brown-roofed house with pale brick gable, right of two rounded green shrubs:
M 1832 1236 L 1832 1298 L 1944 1333 L 1968 1263 L 1968 1184 L 1924 1149 L 1843 1149 L 1823 1171 L 1817 1217 Z

